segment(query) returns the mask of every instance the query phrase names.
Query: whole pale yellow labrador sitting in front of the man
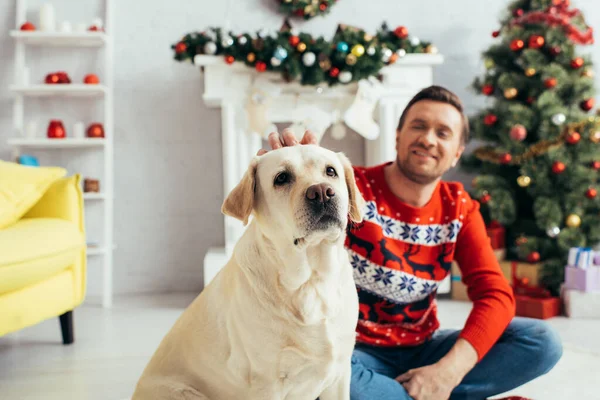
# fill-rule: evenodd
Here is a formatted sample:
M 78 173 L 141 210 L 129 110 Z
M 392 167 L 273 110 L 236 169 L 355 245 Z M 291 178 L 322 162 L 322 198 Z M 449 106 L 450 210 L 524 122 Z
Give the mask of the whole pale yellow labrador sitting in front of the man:
M 358 298 L 343 244 L 364 204 L 354 179 L 346 156 L 315 145 L 255 157 L 222 207 L 252 222 L 133 399 L 350 399 Z

